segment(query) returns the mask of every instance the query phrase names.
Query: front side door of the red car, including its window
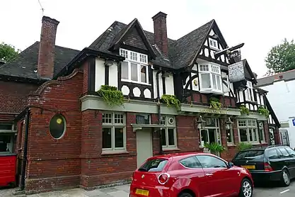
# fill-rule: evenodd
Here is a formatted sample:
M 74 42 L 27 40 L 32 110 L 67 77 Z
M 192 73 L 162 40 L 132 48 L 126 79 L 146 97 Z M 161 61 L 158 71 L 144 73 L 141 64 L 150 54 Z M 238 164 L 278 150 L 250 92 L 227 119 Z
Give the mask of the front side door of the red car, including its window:
M 207 196 L 229 196 L 235 191 L 238 173 L 229 169 L 226 162 L 211 155 L 197 155 L 197 159 L 202 164 L 206 181 L 204 191 Z

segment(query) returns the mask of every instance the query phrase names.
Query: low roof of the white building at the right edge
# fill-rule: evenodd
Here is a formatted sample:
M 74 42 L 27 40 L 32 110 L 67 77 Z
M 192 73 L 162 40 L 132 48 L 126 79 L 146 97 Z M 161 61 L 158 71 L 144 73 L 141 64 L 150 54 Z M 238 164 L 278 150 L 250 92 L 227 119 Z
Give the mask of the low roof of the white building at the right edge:
M 282 81 L 282 80 L 284 81 L 295 80 L 295 69 L 257 79 L 258 84 L 256 86 L 269 86 L 274 84 L 275 81 Z

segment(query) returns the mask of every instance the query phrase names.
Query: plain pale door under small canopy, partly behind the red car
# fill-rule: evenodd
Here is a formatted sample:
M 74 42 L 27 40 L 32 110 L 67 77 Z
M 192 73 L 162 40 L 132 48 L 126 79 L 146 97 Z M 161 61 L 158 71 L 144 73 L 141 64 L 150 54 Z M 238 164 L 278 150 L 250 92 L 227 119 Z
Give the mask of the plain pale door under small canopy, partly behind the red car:
M 137 130 L 137 167 L 149 157 L 153 156 L 153 141 L 151 128 Z

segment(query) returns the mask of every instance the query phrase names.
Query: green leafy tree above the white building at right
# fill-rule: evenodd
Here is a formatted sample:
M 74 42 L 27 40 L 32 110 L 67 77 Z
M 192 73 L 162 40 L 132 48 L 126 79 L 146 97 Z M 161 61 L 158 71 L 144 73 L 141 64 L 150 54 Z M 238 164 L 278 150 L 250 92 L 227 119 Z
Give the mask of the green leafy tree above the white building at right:
M 266 75 L 277 74 L 295 69 L 295 43 L 285 38 L 283 43 L 272 47 L 265 58 L 268 69 Z

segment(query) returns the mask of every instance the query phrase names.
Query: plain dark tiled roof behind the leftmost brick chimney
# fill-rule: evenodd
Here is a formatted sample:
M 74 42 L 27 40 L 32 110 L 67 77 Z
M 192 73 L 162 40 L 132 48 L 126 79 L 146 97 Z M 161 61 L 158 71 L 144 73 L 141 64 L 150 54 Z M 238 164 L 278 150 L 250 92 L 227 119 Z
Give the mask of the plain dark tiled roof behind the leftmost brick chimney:
M 35 42 L 33 45 L 30 45 L 30 47 L 23 50 L 15 60 L 1 65 L 0 74 L 11 77 L 40 79 L 35 72 L 37 70 L 39 44 L 40 42 Z M 56 45 L 54 52 L 54 75 L 56 75 L 79 53 L 79 50 Z

